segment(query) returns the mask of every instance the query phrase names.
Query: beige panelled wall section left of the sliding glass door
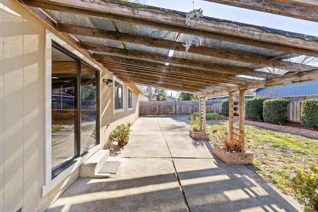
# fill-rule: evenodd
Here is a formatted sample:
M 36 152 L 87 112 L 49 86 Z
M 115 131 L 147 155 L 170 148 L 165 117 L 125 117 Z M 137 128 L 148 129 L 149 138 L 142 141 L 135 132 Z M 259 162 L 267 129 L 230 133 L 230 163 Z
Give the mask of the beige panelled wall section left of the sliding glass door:
M 24 200 L 37 207 L 44 184 L 45 36 L 15 1 L 0 3 L 0 211 L 6 212 Z

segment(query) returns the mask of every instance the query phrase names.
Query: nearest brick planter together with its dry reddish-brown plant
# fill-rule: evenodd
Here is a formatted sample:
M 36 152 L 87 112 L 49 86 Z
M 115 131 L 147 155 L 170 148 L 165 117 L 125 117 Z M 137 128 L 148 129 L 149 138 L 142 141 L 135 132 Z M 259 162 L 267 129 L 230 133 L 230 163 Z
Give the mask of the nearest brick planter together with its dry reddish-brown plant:
M 242 138 L 243 136 L 243 138 Z M 234 131 L 232 139 L 228 129 L 220 128 L 212 131 L 212 139 L 215 141 L 213 145 L 213 154 L 218 156 L 226 164 L 251 164 L 253 162 L 253 153 L 242 152 L 244 142 L 248 142 L 244 135 L 238 130 Z

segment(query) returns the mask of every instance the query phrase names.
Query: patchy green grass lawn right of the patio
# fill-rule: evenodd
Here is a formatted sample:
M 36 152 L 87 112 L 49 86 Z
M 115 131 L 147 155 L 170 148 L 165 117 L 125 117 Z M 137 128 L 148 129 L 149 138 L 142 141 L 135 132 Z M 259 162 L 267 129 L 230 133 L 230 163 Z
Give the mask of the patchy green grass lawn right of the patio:
M 213 129 L 228 126 L 226 120 L 207 121 L 207 131 L 211 134 Z M 317 139 L 252 125 L 245 125 L 245 132 L 249 140 L 245 149 L 254 153 L 253 164 L 248 168 L 287 194 L 292 193 L 285 177 L 289 178 L 296 168 L 309 169 L 311 164 L 318 165 Z

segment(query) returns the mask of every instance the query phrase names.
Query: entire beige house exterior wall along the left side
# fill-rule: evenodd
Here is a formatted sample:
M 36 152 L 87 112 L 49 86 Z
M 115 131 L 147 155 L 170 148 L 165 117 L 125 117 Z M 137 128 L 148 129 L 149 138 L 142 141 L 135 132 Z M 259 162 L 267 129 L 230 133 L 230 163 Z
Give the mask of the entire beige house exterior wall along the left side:
M 0 0 L 0 212 L 21 207 L 27 212 L 45 211 L 79 177 L 77 167 L 43 195 L 50 148 L 46 146 L 46 29 L 56 33 L 17 1 Z M 113 87 L 102 82 L 106 74 L 112 77 L 105 69 L 99 72 L 101 145 L 97 148 L 106 145 L 118 124 L 138 118 L 137 87 L 124 84 L 124 109 L 114 114 Z M 133 90 L 131 110 L 125 101 L 128 86 Z

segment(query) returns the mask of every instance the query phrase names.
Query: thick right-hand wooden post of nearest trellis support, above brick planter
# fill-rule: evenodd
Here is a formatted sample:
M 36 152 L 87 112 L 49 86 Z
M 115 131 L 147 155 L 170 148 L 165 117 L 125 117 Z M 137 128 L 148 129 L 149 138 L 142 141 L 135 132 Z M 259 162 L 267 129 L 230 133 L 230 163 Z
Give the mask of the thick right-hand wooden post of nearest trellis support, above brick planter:
M 239 90 L 239 143 L 241 144 L 241 151 L 245 151 L 244 137 L 245 137 L 245 90 Z

